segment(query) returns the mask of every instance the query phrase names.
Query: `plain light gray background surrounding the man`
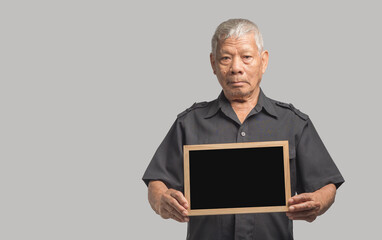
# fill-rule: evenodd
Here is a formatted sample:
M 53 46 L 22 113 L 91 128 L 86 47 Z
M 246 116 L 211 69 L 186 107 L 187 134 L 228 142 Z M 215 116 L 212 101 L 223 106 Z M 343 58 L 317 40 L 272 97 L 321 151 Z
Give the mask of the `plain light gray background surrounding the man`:
M 127 2 L 1 2 L 0 239 L 185 239 L 140 179 L 176 115 L 219 94 L 210 38 L 233 17 L 264 35 L 264 92 L 311 117 L 347 181 L 295 239 L 379 238 L 377 1 Z

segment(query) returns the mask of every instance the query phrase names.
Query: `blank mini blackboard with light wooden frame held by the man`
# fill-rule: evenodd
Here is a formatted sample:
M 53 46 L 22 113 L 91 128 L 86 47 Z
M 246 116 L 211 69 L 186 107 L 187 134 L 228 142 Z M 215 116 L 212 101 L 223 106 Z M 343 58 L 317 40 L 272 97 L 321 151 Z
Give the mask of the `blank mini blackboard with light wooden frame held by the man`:
M 189 215 L 288 211 L 288 141 L 184 146 Z

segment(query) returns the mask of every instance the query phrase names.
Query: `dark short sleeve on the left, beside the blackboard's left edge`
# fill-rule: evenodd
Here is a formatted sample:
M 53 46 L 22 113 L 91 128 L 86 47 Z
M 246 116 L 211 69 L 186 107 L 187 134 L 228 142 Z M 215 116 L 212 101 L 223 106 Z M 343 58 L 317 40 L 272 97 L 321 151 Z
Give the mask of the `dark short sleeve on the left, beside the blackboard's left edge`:
M 183 188 L 183 134 L 179 119 L 171 126 L 166 137 L 159 145 L 142 180 L 149 184 L 151 180 L 160 180 L 168 188 Z

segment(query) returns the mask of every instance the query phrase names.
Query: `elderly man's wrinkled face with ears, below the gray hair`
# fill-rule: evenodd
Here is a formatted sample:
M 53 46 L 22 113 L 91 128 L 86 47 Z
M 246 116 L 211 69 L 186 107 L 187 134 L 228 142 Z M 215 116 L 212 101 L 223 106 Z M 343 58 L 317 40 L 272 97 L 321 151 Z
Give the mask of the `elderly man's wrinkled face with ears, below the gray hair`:
M 245 100 L 258 92 L 267 68 L 268 52 L 259 54 L 253 33 L 230 37 L 217 45 L 211 66 L 227 98 Z

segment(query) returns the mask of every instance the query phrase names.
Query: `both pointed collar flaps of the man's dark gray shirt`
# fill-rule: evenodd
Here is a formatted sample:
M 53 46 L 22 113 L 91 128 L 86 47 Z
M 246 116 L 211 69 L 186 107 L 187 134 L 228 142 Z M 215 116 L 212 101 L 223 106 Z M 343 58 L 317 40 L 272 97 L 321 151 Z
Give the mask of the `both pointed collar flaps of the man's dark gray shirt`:
M 225 114 L 232 112 L 231 103 L 225 97 L 223 91 L 221 91 L 219 97 L 215 101 L 213 101 L 213 103 L 210 106 L 210 109 L 208 110 L 205 118 L 211 118 L 212 116 L 214 116 L 219 111 L 219 109 L 221 109 L 222 112 L 224 112 Z M 231 111 L 229 109 L 231 109 Z M 262 109 L 264 109 L 269 115 L 271 115 L 275 118 L 278 117 L 272 102 L 270 101 L 270 99 L 267 96 L 265 96 L 263 90 L 260 88 L 260 93 L 259 93 L 259 98 L 257 100 L 257 104 L 249 114 L 252 115 L 254 111 L 256 113 L 260 112 Z

